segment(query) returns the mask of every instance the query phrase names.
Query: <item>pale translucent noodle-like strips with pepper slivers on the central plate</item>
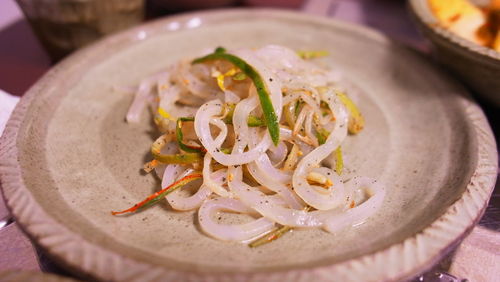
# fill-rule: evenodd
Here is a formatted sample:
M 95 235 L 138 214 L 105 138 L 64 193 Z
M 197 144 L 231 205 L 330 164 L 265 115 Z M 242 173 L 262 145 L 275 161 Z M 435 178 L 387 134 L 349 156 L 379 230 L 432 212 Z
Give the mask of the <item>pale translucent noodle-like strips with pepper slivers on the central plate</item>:
M 219 47 L 143 80 L 126 120 L 153 110 L 161 135 L 144 170 L 163 189 L 112 214 L 166 198 L 175 210 L 197 210 L 206 234 L 251 247 L 294 228 L 336 232 L 364 222 L 385 190 L 375 179 L 343 177 L 342 143 L 365 120 L 338 73 L 311 61 L 324 55 Z M 252 219 L 230 224 L 224 212 Z

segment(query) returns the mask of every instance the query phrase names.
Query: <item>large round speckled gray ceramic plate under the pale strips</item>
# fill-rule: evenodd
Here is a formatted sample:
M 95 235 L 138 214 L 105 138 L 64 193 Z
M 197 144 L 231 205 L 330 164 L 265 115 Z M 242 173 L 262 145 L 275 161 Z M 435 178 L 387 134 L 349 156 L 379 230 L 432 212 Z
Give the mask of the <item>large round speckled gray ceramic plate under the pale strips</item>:
M 140 168 L 155 136 L 124 122 L 134 85 L 179 58 L 223 45 L 327 49 L 322 63 L 357 89 L 366 130 L 345 156 L 385 183 L 361 226 L 296 231 L 250 249 L 203 235 L 193 213 L 127 207 L 157 189 Z M 269 10 L 165 18 L 107 38 L 54 67 L 23 97 L 1 141 L 0 176 L 24 230 L 69 269 L 103 280 L 396 280 L 426 270 L 481 216 L 495 182 L 482 111 L 425 58 L 371 30 Z

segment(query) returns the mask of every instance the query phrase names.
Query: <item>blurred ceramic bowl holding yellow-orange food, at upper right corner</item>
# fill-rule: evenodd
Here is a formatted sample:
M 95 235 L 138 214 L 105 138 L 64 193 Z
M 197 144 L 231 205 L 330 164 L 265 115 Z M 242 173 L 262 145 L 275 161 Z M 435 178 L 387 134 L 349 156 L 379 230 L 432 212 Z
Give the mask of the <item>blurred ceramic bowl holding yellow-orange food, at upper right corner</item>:
M 436 59 L 485 100 L 500 107 L 500 52 L 441 28 L 427 0 L 410 0 L 410 11 L 432 43 Z

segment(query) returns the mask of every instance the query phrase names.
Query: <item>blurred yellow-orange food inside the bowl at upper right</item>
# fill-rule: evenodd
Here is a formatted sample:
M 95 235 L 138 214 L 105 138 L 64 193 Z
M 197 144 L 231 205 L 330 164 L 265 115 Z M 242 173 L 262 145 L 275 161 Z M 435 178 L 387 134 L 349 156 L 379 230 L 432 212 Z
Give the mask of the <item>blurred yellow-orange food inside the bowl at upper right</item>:
M 500 51 L 500 1 L 477 7 L 468 0 L 428 0 L 439 25 L 481 46 Z

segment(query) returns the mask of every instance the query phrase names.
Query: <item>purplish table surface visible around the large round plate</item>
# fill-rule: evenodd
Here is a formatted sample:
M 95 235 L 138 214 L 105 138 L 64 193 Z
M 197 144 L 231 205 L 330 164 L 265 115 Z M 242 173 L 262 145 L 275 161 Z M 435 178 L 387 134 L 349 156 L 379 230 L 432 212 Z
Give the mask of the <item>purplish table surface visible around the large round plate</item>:
M 320 0 L 321 1 L 321 0 Z M 247 4 L 266 1 L 246 1 Z M 272 1 L 268 1 L 272 2 Z M 286 3 L 286 1 L 276 1 Z M 309 1 L 318 2 L 318 1 Z M 314 12 L 309 9 L 309 12 Z M 396 41 L 421 52 L 428 51 L 427 43 L 415 30 L 408 17 L 405 1 L 397 0 L 333 0 L 323 5 L 329 17 L 378 29 Z M 324 11 L 323 11 L 324 13 Z M 154 14 L 157 14 L 155 12 Z M 35 38 L 31 28 L 14 0 L 0 1 L 0 89 L 22 96 L 49 68 L 50 59 Z M 479 101 L 499 140 L 498 109 Z M 58 268 L 38 251 L 15 221 L 11 220 L 0 199 L 0 272 L 30 270 L 71 274 Z M 471 281 L 493 281 L 500 273 L 500 182 L 485 216 L 461 246 L 436 269 L 446 270 Z M 430 279 L 430 278 L 429 278 Z M 430 281 L 430 280 L 429 280 Z

